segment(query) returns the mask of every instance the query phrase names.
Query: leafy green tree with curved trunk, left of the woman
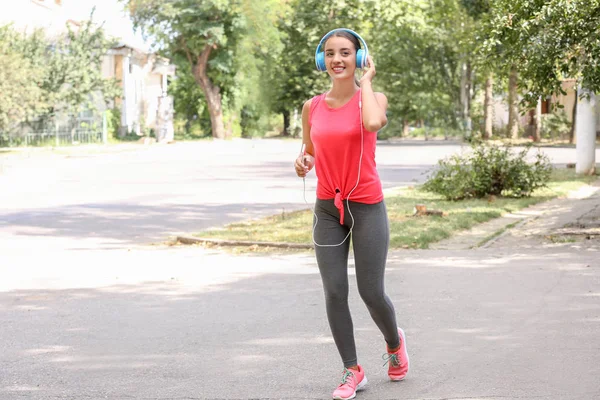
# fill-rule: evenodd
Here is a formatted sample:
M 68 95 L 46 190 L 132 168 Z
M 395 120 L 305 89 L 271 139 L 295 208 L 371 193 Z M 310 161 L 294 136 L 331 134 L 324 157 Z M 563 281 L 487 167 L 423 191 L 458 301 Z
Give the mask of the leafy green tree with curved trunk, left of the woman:
M 123 1 L 136 25 L 156 39 L 156 46 L 178 67 L 172 93 L 177 118 L 186 121 L 185 134 L 200 124 L 218 136 L 224 128 L 217 117 L 229 132 L 240 131 L 244 107 L 268 113 L 262 71 L 280 45 L 276 20 L 285 2 Z

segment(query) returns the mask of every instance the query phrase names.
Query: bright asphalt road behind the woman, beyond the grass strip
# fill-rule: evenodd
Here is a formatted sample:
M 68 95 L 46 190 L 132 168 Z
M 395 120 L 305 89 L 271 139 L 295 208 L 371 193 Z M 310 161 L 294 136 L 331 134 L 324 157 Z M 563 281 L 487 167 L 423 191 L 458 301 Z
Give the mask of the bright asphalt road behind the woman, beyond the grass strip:
M 0 237 L 52 238 L 58 247 L 74 240 L 123 247 L 307 207 L 292 167 L 297 140 L 123 148 L 68 156 L 0 155 Z M 383 185 L 422 182 L 440 158 L 462 150 L 445 142 L 381 143 L 377 162 Z M 575 149 L 545 151 L 554 163 L 574 161 Z M 309 202 L 315 183 L 312 173 Z

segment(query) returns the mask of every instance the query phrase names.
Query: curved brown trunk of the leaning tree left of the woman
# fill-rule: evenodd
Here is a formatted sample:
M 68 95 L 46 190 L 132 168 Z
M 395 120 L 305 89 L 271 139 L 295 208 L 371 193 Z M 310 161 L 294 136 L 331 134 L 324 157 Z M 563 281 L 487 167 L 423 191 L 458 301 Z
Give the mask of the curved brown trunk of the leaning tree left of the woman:
M 225 138 L 225 126 L 223 125 L 223 104 L 221 102 L 221 89 L 215 86 L 208 74 L 206 68 L 208 66 L 208 58 L 212 51 L 212 45 L 206 45 L 202 50 L 202 53 L 195 60 L 192 65 L 192 73 L 196 83 L 202 88 L 204 96 L 206 97 L 206 104 L 208 106 L 208 113 L 210 114 L 210 124 L 212 127 L 213 138 L 224 139 Z

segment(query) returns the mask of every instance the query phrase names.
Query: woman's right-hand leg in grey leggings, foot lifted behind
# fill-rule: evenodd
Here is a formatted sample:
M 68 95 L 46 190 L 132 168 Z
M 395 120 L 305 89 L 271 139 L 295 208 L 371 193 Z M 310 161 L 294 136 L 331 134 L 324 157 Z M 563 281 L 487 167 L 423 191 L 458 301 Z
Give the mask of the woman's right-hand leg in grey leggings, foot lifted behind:
M 396 313 L 385 294 L 385 263 L 390 231 L 385 203 L 350 202 L 354 216 L 352 245 L 358 292 L 390 348 L 400 344 Z M 347 216 L 346 218 L 349 218 Z

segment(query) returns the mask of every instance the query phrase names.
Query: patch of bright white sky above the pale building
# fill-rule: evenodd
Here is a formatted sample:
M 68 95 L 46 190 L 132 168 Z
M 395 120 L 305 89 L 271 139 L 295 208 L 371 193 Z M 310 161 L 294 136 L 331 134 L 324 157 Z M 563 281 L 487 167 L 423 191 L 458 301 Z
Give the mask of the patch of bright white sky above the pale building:
M 94 21 L 104 22 L 104 28 L 108 35 L 122 37 L 128 44 L 138 48 L 149 48 L 149 43 L 144 41 L 141 33 L 134 32 L 133 24 L 123 10 L 122 2 L 118 0 L 63 0 L 65 14 L 74 20 L 87 19 L 94 6 L 96 6 Z

